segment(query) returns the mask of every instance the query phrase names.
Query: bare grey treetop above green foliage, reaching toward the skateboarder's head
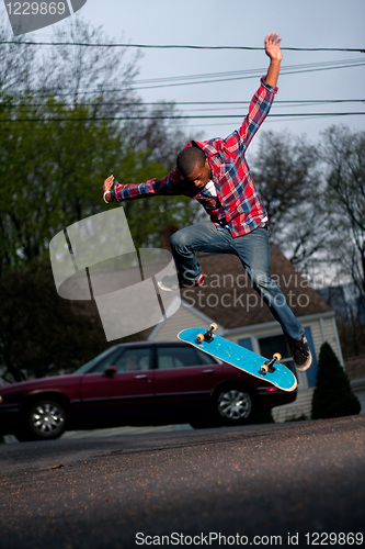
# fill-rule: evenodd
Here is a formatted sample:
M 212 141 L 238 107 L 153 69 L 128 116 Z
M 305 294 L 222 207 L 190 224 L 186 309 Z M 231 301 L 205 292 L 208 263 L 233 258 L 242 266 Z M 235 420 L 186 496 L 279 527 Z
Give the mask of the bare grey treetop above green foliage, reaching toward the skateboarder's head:
M 44 78 L 39 86 L 45 94 L 52 93 L 75 107 L 87 104 L 93 116 L 111 119 L 111 132 L 123 130 L 126 148 L 148 150 L 146 161 L 163 163 L 172 169 L 176 153 L 187 138 L 178 126 L 181 115 L 173 102 L 145 105 L 134 89 L 140 52 L 114 47 L 115 41 L 105 36 L 101 27 L 94 29 L 80 19 L 58 30 L 55 42 L 99 46 L 53 47 L 43 58 L 41 71 Z

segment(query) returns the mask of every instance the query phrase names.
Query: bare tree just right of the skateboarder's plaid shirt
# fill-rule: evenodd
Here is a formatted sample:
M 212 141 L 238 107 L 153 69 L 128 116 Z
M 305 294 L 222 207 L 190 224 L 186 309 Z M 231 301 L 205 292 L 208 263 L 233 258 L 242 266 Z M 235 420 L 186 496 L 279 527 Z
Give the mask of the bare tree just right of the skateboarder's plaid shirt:
M 326 247 L 317 147 L 304 136 L 263 133 L 252 172 L 269 212 L 273 240 L 293 264 L 310 270 Z

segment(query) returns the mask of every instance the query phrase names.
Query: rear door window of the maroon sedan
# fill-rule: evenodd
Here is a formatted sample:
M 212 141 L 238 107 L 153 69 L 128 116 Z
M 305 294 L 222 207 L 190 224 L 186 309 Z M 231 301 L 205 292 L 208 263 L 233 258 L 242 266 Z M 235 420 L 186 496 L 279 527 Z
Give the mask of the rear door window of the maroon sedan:
M 198 351 L 194 347 L 184 347 L 182 345 L 158 347 L 157 360 L 159 370 L 216 363 L 216 360 L 205 352 Z

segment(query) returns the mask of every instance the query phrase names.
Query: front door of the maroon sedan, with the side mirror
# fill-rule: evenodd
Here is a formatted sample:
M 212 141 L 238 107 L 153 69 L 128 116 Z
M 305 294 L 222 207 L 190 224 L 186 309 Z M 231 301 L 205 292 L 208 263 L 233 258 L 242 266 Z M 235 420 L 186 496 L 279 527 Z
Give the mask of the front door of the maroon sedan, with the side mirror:
M 153 399 L 150 352 L 149 346 L 122 348 L 111 365 L 83 376 L 80 406 L 95 426 L 128 425 L 148 416 L 145 407 Z

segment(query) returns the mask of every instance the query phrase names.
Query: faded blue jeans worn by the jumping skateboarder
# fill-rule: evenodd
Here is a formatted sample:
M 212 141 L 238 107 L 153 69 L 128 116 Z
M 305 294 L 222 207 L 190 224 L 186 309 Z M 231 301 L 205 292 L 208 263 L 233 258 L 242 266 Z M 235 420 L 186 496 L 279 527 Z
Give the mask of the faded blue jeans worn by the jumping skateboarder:
M 171 237 L 171 250 L 178 271 L 189 280 L 197 280 L 202 273 L 194 251 L 236 254 L 247 270 L 253 288 L 267 304 L 284 334 L 293 339 L 300 339 L 305 332 L 304 327 L 287 305 L 282 290 L 269 277 L 267 228 L 259 227 L 252 233 L 233 238 L 227 228 L 217 227 L 210 222 L 198 223 L 174 233 Z

